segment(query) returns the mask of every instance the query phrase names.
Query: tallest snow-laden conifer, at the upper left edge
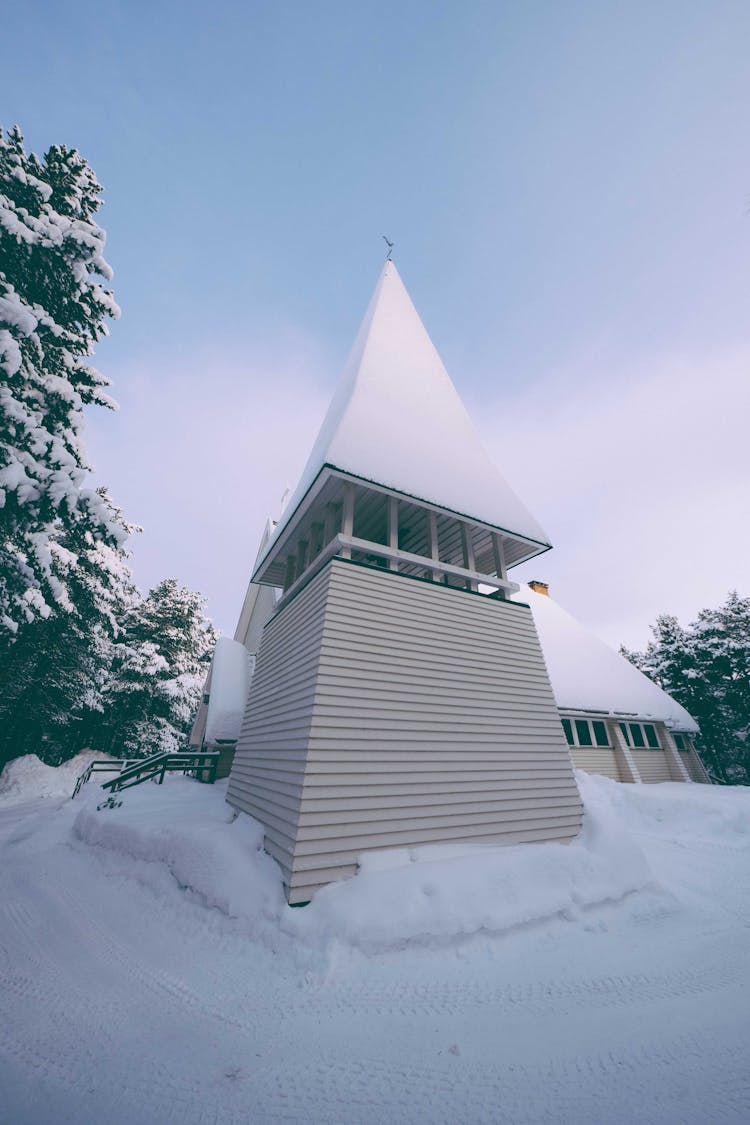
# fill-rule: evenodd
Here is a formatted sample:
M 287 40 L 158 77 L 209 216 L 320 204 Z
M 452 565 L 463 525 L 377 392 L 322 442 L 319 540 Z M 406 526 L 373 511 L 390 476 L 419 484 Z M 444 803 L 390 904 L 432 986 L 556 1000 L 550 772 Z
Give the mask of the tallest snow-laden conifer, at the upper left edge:
M 87 361 L 119 309 L 101 187 L 75 150 L 27 154 L 0 130 L 0 637 L 73 604 L 54 544 L 78 523 L 121 544 L 121 522 L 87 486 L 83 407 L 114 406 Z

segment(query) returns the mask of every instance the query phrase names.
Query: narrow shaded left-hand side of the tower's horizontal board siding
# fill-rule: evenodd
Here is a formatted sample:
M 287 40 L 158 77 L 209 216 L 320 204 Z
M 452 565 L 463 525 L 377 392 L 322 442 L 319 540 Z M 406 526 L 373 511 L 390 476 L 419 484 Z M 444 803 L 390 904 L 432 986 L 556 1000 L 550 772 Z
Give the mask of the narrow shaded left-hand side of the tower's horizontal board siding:
M 265 848 L 291 879 L 315 700 L 328 572 L 263 631 L 227 801 L 265 828 Z

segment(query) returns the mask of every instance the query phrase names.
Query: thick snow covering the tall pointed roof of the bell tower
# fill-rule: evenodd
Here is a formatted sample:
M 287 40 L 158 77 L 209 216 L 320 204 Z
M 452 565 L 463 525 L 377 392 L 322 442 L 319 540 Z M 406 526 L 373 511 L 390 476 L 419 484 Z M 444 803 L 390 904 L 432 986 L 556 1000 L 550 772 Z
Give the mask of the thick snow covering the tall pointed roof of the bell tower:
M 274 539 L 325 465 L 549 546 L 485 451 L 391 261 Z

